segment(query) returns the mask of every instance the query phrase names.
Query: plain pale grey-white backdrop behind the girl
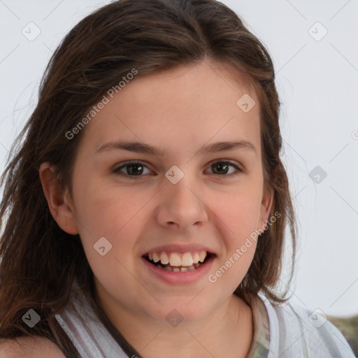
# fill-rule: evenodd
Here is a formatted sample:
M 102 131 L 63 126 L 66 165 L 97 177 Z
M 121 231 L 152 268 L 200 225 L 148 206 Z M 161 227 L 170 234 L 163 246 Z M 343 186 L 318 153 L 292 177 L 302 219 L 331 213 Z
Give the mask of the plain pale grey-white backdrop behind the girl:
M 50 55 L 109 2 L 0 0 L 1 173 Z M 327 315 L 357 314 L 358 0 L 222 3 L 266 45 L 277 73 L 282 158 L 299 226 L 292 301 Z

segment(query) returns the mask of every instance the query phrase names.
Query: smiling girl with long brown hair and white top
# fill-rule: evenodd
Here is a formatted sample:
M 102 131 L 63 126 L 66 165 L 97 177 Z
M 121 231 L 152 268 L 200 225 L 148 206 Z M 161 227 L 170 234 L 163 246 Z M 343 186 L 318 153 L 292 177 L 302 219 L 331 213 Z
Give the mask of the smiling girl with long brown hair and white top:
M 275 289 L 296 228 L 274 80 L 214 0 L 69 32 L 3 174 L 1 357 L 354 357 Z

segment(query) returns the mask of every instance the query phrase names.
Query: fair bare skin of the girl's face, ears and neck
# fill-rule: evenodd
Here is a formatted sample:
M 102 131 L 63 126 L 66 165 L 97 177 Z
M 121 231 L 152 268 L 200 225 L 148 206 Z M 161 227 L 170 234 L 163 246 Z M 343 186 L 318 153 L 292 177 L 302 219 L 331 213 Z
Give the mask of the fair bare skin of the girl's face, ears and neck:
M 98 300 L 123 336 L 146 358 L 246 357 L 252 343 L 250 307 L 233 294 L 252 262 L 256 244 L 217 282 L 208 276 L 187 285 L 159 280 L 141 262 L 158 245 L 199 243 L 215 252 L 215 273 L 262 228 L 272 205 L 263 192 L 259 101 L 253 90 L 213 62 L 138 77 L 115 94 L 87 124 L 73 171 L 73 197 L 59 187 L 50 164 L 40 169 L 52 216 L 64 231 L 80 234 L 94 272 Z M 243 94 L 256 105 L 244 113 Z M 149 143 L 163 157 L 108 150 L 110 141 Z M 196 154 L 203 145 L 250 141 L 250 149 Z M 225 159 L 224 173 L 213 162 Z M 128 160 L 145 165 L 141 176 L 113 170 Z M 165 173 L 176 165 L 184 177 L 175 185 Z M 216 169 L 216 171 L 215 171 Z M 136 173 L 138 172 L 138 169 Z M 224 174 L 220 174 L 224 173 Z M 104 256 L 94 244 L 113 245 Z M 176 309 L 182 322 L 166 315 Z

